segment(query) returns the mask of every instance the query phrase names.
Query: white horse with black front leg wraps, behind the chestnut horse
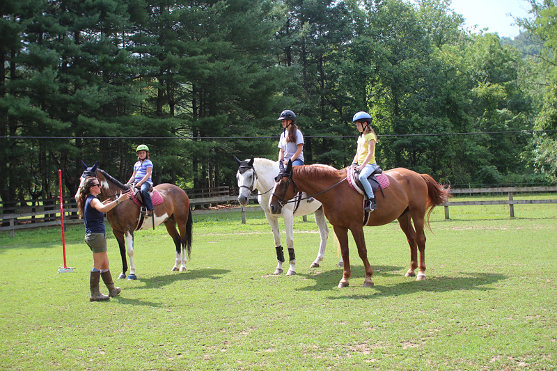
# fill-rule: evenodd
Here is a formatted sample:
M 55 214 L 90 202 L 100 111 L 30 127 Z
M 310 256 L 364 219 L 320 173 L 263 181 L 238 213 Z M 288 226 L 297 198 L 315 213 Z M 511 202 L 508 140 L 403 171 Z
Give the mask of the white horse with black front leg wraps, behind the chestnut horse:
M 327 247 L 327 237 L 329 237 L 329 228 L 327 228 L 327 219 L 325 219 L 325 214 L 321 203 L 317 200 L 312 200 L 308 202 L 306 194 L 298 194 L 298 202 L 288 203 L 283 207 L 281 214 L 271 214 L 269 210 L 269 200 L 272 196 L 271 191 L 274 187 L 275 177 L 278 175 L 278 161 L 271 161 L 269 159 L 251 157 L 249 160 L 240 161 L 237 157 L 234 157 L 239 168 L 236 173 L 236 180 L 238 182 L 238 187 L 240 188 L 240 194 L 238 196 L 238 202 L 240 205 L 247 205 L 249 203 L 249 194 L 251 191 L 258 190 L 258 202 L 269 225 L 273 231 L 274 245 L 276 249 L 276 260 L 278 265 L 274 271 L 274 274 L 283 273 L 283 262 L 285 262 L 283 255 L 283 247 L 281 245 L 281 236 L 278 230 L 278 216 L 282 216 L 284 219 L 284 228 L 286 232 L 286 246 L 288 247 L 288 255 L 290 268 L 286 273 L 287 276 L 296 274 L 296 256 L 294 253 L 294 216 L 304 216 L 307 214 L 315 215 L 315 223 L 319 227 L 319 234 L 321 236 L 321 244 L 319 246 L 319 252 L 317 253 L 317 258 L 311 267 L 319 267 L 320 262 L 322 262 L 325 255 L 325 247 Z M 343 260 L 338 262 L 338 267 L 343 266 Z

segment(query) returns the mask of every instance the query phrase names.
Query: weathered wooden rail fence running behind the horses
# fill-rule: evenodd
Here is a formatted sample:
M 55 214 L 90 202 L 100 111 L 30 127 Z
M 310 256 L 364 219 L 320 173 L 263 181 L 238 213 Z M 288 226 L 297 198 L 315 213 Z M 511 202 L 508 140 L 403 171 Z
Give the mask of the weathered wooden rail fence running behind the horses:
M 236 196 L 230 194 L 223 194 L 230 192 L 227 188 L 217 190 L 218 196 L 211 196 L 205 198 L 191 198 L 191 207 L 199 205 L 222 204 L 222 203 L 235 203 L 237 202 Z M 449 207 L 453 206 L 466 206 L 466 205 L 509 205 L 509 215 L 511 218 L 515 217 L 515 205 L 520 204 L 549 204 L 557 203 L 557 200 L 515 200 L 515 194 L 521 193 L 540 193 L 540 192 L 555 192 L 557 187 L 499 187 L 499 188 L 470 188 L 470 189 L 451 189 L 451 194 L 508 194 L 508 200 L 478 200 L 478 201 L 448 201 L 444 203 L 445 219 L 449 218 Z M 250 197 L 250 201 L 257 200 L 256 195 Z M 31 203 L 31 206 L 16 206 L 16 203 L 8 205 L 2 203 L 0 207 L 0 232 L 10 231 L 10 237 L 14 237 L 15 230 L 26 228 L 38 228 L 45 226 L 59 226 L 60 221 L 60 206 L 58 199 L 48 198 L 47 200 L 26 200 L 25 203 Z M 17 203 L 20 204 L 20 203 Z M 81 219 L 77 218 L 77 204 L 72 196 L 64 196 L 64 224 L 83 223 Z M 246 223 L 246 212 L 261 211 L 259 206 L 248 207 L 230 207 L 226 209 L 217 210 L 193 210 L 194 215 L 202 214 L 218 214 L 225 212 L 240 212 L 242 216 L 242 223 Z M 304 219 L 306 220 L 306 219 Z

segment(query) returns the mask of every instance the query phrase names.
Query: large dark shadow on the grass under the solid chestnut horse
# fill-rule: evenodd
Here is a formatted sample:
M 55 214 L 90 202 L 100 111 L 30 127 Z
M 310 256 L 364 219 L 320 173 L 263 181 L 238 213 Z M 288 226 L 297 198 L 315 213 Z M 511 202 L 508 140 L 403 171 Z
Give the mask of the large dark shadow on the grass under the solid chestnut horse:
M 427 274 L 427 272 L 426 272 Z M 373 282 L 375 285 L 365 290 L 369 290 L 366 294 L 353 294 L 342 297 L 329 297 L 329 299 L 371 299 L 373 297 L 386 297 L 414 294 L 416 292 L 449 292 L 455 290 L 492 290 L 491 285 L 501 280 L 507 279 L 503 274 L 494 273 L 478 273 L 478 272 L 460 272 L 461 276 L 428 276 L 425 281 L 416 281 L 416 277 L 404 277 L 402 267 L 377 266 L 373 267 Z M 314 280 L 315 285 L 303 287 L 300 291 L 327 291 L 336 288 L 338 281 L 342 278 L 342 271 L 324 271 L 317 274 L 301 274 L 308 280 Z M 350 278 L 350 288 L 361 287 L 363 278 L 366 274 L 363 267 L 352 267 L 352 277 Z M 393 285 L 381 285 L 382 279 L 400 277 L 404 282 L 395 283 Z

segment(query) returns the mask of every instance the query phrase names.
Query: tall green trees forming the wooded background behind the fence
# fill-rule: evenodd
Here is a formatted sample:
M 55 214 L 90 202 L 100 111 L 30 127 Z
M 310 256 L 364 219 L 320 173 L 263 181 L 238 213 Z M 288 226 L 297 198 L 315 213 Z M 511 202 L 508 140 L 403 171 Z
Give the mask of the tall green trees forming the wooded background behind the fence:
M 73 193 L 81 160 L 127 180 L 140 143 L 155 183 L 235 186 L 283 109 L 308 164 L 349 165 L 368 111 L 384 169 L 553 184 L 557 8 L 531 6 L 511 40 L 449 0 L 4 0 L 0 197 L 48 197 L 58 169 Z

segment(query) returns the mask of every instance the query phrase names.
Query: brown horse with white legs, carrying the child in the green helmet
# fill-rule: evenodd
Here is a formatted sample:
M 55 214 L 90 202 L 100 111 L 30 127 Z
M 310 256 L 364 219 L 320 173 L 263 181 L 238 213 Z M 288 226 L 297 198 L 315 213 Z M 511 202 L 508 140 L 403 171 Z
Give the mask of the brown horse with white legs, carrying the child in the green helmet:
M 83 175 L 81 175 L 79 189 L 77 189 L 75 194 L 76 200 L 85 180 L 91 176 L 97 177 L 99 180 L 101 192 L 98 197 L 101 201 L 118 196 L 120 191 L 130 190 L 129 186 L 118 182 L 107 172 L 97 168 L 96 162 L 91 167 L 87 167 L 83 161 L 82 164 L 85 170 Z M 159 226 L 162 223 L 166 226 L 168 235 L 171 235 L 176 246 L 175 265 L 171 270 L 186 270 L 186 253 L 189 258 L 191 254 L 191 229 L 193 226 L 191 210 L 189 209 L 189 198 L 183 189 L 176 187 L 174 184 L 157 184 L 155 190 L 162 196 L 163 201 L 161 204 L 155 205 L 153 216 L 142 218 L 140 207 L 133 200 L 125 200 L 107 212 L 107 219 L 112 227 L 114 237 L 118 241 L 120 256 L 122 257 L 122 273 L 118 276 L 120 279 L 126 277 L 126 250 L 127 255 L 130 257 L 130 276 L 127 279 L 134 280 L 137 278 L 134 263 L 134 231 L 153 228 L 153 226 Z M 155 223 L 153 223 L 152 217 L 155 217 Z M 139 225 L 140 223 L 141 225 Z M 176 230 L 176 224 L 178 224 L 180 233 Z

